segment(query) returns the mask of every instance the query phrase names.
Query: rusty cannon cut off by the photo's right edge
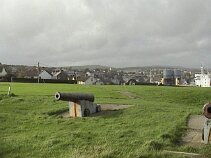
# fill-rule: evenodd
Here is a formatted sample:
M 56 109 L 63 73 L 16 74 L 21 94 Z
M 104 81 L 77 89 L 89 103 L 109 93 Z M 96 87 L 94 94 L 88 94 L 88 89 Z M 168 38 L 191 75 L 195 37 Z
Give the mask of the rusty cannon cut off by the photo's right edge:
M 205 122 L 202 130 L 202 140 L 205 144 L 208 144 L 211 142 L 211 103 L 204 105 L 203 115 L 205 116 Z

